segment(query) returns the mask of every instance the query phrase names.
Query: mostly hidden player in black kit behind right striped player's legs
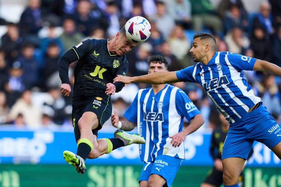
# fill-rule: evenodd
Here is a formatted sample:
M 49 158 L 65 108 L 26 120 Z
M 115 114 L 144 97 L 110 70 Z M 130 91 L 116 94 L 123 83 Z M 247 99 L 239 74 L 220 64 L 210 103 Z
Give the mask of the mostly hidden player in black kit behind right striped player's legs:
M 216 127 L 212 133 L 210 154 L 214 159 L 214 167 L 208 172 L 206 179 L 201 184 L 201 187 L 219 187 L 223 184 L 223 167 L 221 161 L 221 151 L 224 145 L 224 140 L 227 136 L 229 122 L 224 116 L 219 113 L 219 121 L 221 125 Z M 253 148 L 251 149 L 248 159 L 253 155 Z M 244 186 L 244 179 L 242 173 L 238 180 L 239 187 Z

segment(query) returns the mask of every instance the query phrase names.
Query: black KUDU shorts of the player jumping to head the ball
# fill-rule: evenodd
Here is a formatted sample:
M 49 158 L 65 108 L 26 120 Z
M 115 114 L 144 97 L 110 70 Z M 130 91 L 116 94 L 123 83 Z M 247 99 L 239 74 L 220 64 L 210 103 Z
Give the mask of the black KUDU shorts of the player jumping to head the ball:
M 93 129 L 92 132 L 97 136 L 98 130 L 101 129 L 104 122 L 106 122 L 112 112 L 112 104 L 109 95 L 102 96 L 77 96 L 72 99 L 72 125 L 74 127 L 74 134 L 76 142 L 80 139 L 80 130 L 78 121 L 85 112 L 93 112 L 99 120 L 99 126 Z

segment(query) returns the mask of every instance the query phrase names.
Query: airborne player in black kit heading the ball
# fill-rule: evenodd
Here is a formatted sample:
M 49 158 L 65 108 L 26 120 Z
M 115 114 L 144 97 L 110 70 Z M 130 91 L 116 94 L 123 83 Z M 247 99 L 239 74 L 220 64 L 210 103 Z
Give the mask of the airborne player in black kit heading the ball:
M 123 27 L 114 39 L 88 39 L 73 46 L 58 60 L 61 90 L 65 96 L 71 92 L 69 64 L 78 60 L 72 98 L 72 122 L 78 148 L 76 154 L 64 151 L 63 157 L 79 174 L 86 172 L 86 158 L 97 158 L 132 143 L 145 143 L 142 137 L 120 129 L 115 131 L 115 138 L 97 140 L 98 130 L 111 116 L 110 94 L 124 87 L 123 83 L 112 84 L 113 79 L 118 74 L 126 76 L 128 61 L 125 54 L 136 45 L 127 39 Z

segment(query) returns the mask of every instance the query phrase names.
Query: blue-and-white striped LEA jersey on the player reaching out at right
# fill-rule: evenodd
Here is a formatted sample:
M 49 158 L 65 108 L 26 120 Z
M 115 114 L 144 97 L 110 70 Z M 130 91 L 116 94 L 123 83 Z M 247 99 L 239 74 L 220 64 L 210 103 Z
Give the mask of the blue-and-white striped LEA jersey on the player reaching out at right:
M 199 62 L 176 72 L 182 81 L 200 84 L 230 125 L 261 102 L 244 78 L 242 70 L 253 70 L 257 59 L 216 52 L 207 65 Z

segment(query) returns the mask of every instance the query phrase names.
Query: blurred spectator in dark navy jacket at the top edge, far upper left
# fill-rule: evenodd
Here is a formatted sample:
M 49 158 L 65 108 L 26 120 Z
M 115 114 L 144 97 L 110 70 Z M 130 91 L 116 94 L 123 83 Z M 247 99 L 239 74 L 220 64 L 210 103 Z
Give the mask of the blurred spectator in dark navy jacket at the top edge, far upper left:
M 42 28 L 40 5 L 41 0 L 28 1 L 28 7 L 23 11 L 19 22 L 21 36 L 37 36 L 38 31 Z

